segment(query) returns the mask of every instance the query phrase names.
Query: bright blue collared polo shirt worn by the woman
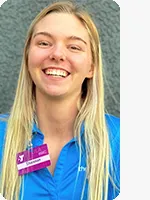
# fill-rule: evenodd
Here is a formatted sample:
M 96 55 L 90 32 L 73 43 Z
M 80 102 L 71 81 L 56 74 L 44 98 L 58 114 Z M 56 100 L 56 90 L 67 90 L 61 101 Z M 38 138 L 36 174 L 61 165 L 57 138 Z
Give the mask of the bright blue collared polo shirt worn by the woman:
M 120 180 L 120 136 L 119 118 L 106 115 L 106 122 L 109 130 L 110 145 L 112 148 L 112 158 L 116 167 L 115 183 L 119 188 Z M 2 160 L 2 150 L 4 145 L 4 135 L 6 122 L 0 122 L 0 163 Z M 81 139 L 84 146 L 84 125 L 81 127 Z M 33 125 L 33 147 L 43 144 L 44 135 Z M 85 149 L 83 148 L 81 163 L 79 165 L 79 147 L 77 139 L 73 138 L 61 150 L 57 160 L 54 175 L 47 168 L 31 172 L 23 176 L 21 191 L 23 190 L 23 200 L 80 200 L 82 187 L 86 175 Z M 85 182 L 85 192 L 83 200 L 87 200 L 88 181 Z M 119 191 L 113 188 L 109 181 L 108 200 L 113 200 L 118 196 Z M 21 192 L 22 193 L 22 192 Z M 20 195 L 21 200 L 21 195 Z

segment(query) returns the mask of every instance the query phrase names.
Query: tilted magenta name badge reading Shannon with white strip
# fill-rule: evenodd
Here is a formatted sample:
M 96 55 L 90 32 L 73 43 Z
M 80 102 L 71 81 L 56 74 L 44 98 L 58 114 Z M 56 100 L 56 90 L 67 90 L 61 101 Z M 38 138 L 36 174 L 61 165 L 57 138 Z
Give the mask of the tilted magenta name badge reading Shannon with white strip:
M 19 175 L 27 174 L 51 165 L 47 144 L 17 154 Z

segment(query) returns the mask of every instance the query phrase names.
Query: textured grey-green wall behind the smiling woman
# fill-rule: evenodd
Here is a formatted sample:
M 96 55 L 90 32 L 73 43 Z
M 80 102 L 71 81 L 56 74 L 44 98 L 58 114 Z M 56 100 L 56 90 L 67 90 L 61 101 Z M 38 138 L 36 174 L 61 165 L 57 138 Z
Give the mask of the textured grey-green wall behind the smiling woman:
M 53 0 L 7 0 L 0 8 L 0 113 L 13 103 L 28 26 Z M 113 0 L 76 0 L 92 15 L 103 53 L 105 106 L 120 116 L 120 8 Z

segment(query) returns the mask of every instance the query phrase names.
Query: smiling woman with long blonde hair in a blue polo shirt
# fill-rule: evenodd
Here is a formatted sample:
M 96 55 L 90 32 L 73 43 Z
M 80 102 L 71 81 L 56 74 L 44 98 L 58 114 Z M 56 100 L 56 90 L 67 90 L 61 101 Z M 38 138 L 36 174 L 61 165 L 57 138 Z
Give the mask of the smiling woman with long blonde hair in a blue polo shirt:
M 3 118 L 0 193 L 7 200 L 119 194 L 119 119 L 104 112 L 99 35 L 85 11 L 57 2 L 36 16 Z M 35 159 L 37 152 L 49 153 Z

